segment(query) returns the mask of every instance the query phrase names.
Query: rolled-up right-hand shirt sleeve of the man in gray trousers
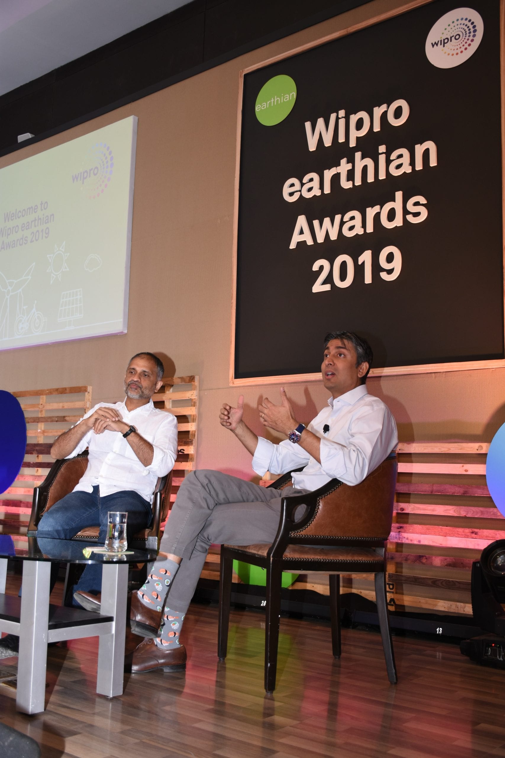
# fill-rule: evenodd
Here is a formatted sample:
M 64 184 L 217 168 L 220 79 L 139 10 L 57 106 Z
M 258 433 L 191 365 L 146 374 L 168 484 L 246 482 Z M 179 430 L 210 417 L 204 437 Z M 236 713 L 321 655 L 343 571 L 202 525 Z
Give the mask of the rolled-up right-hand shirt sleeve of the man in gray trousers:
M 382 462 L 385 446 L 391 444 L 394 449 L 397 436 L 394 420 L 382 405 L 373 411 L 368 408 L 358 412 L 349 428 L 345 445 L 321 438 L 320 459 L 327 476 L 354 485 L 360 484 Z

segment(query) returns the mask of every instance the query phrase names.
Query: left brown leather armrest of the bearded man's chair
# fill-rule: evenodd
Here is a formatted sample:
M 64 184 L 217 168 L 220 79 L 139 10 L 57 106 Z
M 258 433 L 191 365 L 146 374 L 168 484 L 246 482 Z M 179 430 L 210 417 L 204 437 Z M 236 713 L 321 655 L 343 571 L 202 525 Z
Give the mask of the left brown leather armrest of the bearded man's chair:
M 36 537 L 42 515 L 54 503 L 72 492 L 86 471 L 87 465 L 87 450 L 74 458 L 64 458 L 53 463 L 42 484 L 33 488 L 32 512 L 27 531 L 29 537 Z

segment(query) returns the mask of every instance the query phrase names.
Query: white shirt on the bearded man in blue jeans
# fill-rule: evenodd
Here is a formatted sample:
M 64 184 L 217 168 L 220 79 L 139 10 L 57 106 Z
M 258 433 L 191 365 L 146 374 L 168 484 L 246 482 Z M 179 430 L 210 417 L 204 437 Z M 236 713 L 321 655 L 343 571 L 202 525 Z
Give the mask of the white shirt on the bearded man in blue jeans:
M 100 487 L 101 496 L 121 490 L 134 490 L 152 503 L 158 477 L 172 471 L 177 457 L 177 419 L 167 411 L 154 408 L 152 400 L 132 411 L 124 402 L 99 402 L 83 418 L 88 418 L 97 408 L 115 408 L 126 424 L 134 426 L 154 449 L 152 463 L 145 466 L 139 461 L 128 440 L 120 432 L 106 430 L 95 434 L 90 429 L 67 458 L 73 458 L 89 447 L 88 468 L 73 491 L 92 492 L 94 485 Z M 83 421 L 79 420 L 79 424 Z

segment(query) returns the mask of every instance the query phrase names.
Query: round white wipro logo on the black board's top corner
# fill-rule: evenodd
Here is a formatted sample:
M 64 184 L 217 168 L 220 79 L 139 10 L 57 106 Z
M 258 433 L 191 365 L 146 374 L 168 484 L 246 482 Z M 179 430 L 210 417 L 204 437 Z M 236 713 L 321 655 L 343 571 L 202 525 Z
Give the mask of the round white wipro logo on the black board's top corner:
M 455 8 L 434 24 L 426 39 L 426 56 L 438 68 L 453 68 L 468 61 L 479 47 L 484 22 L 473 8 Z

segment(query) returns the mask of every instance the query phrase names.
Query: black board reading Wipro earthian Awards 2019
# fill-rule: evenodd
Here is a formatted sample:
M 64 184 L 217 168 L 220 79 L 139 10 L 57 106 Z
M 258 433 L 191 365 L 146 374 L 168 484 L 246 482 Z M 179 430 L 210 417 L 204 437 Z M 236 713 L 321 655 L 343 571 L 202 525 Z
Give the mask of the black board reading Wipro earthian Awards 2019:
M 338 329 L 366 335 L 385 372 L 503 361 L 500 2 L 472 0 L 475 52 L 437 67 L 427 38 L 456 6 L 419 5 L 243 74 L 232 383 L 316 373 Z M 257 96 L 279 75 L 295 104 L 265 126 L 257 113 L 276 101 Z M 309 149 L 331 114 L 331 144 L 320 134 Z

